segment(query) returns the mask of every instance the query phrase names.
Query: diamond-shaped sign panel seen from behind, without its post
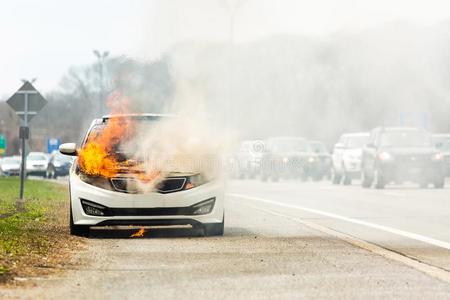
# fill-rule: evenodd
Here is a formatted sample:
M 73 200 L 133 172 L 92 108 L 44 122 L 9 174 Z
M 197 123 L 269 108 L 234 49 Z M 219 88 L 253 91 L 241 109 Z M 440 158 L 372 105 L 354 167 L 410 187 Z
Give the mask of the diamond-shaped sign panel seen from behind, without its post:
M 47 100 L 28 81 L 6 102 L 24 120 L 25 126 L 47 104 Z

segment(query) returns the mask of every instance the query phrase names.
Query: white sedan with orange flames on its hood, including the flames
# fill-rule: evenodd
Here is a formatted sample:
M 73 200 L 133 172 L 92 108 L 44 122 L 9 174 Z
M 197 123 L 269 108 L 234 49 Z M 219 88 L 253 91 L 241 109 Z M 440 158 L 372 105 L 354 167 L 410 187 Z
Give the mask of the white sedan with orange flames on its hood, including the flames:
M 93 121 L 79 149 L 74 143 L 60 146 L 61 153 L 77 156 L 69 174 L 72 235 L 87 236 L 91 226 L 108 225 L 192 225 L 207 236 L 223 234 L 220 179 L 192 169 L 167 171 L 168 162 L 157 159 L 148 166 L 148 157 L 132 151 L 143 143 L 139 134 L 150 134 L 169 118 L 105 116 Z

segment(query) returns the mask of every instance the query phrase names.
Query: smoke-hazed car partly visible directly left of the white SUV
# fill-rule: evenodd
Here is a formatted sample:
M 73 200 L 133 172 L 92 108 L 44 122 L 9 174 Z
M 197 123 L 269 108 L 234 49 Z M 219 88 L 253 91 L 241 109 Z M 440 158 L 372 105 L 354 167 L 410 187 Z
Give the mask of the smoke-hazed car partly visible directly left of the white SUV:
M 331 155 L 325 144 L 320 141 L 308 141 L 308 146 L 311 152 L 308 159 L 310 162 L 309 175 L 314 180 L 322 180 L 325 176 L 330 175 Z

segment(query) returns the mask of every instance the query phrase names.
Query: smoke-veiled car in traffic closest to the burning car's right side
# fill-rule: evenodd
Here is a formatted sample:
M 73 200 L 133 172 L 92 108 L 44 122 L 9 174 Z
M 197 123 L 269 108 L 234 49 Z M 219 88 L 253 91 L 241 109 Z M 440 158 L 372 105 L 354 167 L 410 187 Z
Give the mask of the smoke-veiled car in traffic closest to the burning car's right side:
M 255 178 L 259 175 L 264 142 L 242 141 L 232 158 L 232 172 L 237 178 Z

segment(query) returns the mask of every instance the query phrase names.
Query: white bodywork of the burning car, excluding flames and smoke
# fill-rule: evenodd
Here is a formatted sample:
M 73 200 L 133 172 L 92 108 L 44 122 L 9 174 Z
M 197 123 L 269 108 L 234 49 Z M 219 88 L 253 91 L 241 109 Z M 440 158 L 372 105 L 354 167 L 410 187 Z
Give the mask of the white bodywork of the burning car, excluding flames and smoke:
M 91 132 L 101 132 L 112 118 L 129 118 L 151 125 L 166 117 L 141 114 L 97 119 L 89 128 L 81 149 Z M 59 149 L 66 155 L 80 153 L 74 143 L 62 144 Z M 221 180 L 207 181 L 198 173 L 170 173 L 157 190 L 149 192 L 134 189 L 136 180 L 127 173 L 114 177 L 88 175 L 81 170 L 78 158 L 69 174 L 70 233 L 88 236 L 91 226 L 192 225 L 202 228 L 207 236 L 223 235 L 224 184 Z

